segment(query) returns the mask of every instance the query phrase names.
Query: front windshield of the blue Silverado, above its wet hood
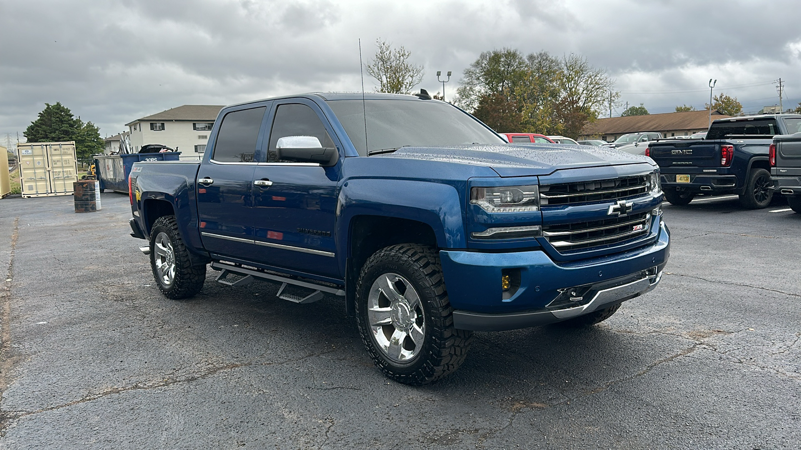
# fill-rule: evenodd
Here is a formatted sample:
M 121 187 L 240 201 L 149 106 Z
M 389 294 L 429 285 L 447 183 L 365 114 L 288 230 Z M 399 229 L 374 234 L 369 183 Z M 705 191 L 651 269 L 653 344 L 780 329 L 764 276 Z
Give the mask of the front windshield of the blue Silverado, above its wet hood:
M 359 155 L 400 147 L 507 143 L 476 119 L 444 102 L 417 98 L 328 100 Z M 367 110 L 366 143 L 364 110 Z

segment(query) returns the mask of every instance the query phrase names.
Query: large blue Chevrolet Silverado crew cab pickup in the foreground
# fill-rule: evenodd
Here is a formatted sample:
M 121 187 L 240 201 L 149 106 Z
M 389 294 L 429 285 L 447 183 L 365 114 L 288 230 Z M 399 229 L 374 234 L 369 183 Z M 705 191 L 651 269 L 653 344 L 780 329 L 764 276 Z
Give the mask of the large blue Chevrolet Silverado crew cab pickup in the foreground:
M 426 384 L 473 331 L 589 325 L 659 283 L 658 167 L 597 147 L 505 142 L 425 92 L 227 106 L 203 161 L 136 163 L 131 229 L 159 289 L 280 283 L 343 295 L 387 376 Z

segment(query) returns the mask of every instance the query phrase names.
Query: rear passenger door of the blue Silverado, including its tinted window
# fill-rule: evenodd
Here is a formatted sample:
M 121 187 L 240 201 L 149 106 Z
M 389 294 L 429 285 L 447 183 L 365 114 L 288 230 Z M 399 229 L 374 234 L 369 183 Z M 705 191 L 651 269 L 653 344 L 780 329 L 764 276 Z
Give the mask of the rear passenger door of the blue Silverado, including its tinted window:
M 253 253 L 251 187 L 267 109 L 258 104 L 227 111 L 200 165 L 195 184 L 200 238 L 216 255 L 247 259 Z

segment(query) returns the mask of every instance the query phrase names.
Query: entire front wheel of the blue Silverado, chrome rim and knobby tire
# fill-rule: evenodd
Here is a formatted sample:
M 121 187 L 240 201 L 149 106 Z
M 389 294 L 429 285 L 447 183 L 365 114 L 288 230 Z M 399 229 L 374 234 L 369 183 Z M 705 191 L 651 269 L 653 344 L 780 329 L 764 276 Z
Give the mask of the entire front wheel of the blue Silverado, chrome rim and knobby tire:
M 356 319 L 376 366 L 405 384 L 429 384 L 456 371 L 472 335 L 453 327 L 439 256 L 411 243 L 386 247 L 364 263 Z

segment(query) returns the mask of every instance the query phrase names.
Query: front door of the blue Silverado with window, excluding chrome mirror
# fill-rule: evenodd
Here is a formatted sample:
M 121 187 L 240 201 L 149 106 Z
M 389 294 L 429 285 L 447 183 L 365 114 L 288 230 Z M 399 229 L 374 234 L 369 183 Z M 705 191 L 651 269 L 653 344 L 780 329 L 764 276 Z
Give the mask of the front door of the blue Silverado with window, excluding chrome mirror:
M 323 147 L 335 147 L 342 155 L 331 124 L 320 107 L 307 98 L 276 101 L 269 139 L 262 147 L 267 162 L 253 175 L 252 223 L 260 250 L 255 262 L 273 267 L 340 278 L 336 263 L 334 225 L 340 164 L 290 163 L 276 156 L 278 139 L 314 136 Z

